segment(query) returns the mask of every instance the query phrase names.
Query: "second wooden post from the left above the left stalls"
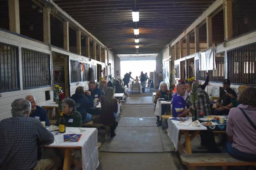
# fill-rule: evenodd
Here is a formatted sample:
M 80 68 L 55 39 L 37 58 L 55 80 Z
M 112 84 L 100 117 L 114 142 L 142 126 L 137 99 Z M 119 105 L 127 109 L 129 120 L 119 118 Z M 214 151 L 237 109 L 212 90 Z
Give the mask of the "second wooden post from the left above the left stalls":
M 51 8 L 43 7 L 43 42 L 51 44 Z

